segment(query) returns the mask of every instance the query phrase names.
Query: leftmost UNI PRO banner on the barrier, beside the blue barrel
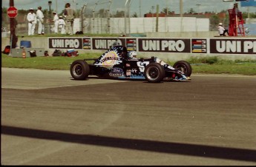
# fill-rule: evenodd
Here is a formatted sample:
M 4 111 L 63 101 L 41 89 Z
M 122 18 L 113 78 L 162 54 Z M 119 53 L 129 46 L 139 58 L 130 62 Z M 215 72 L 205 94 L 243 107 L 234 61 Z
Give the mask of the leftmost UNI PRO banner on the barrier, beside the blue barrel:
M 82 49 L 82 38 L 48 38 L 50 49 Z

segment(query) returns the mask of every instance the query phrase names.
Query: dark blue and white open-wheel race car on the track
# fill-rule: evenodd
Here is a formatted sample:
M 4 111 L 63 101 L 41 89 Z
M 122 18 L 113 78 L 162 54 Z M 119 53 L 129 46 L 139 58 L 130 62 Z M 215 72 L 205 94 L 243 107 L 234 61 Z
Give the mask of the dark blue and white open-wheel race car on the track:
M 150 83 L 188 81 L 191 72 L 191 65 L 187 61 L 177 61 L 172 67 L 154 56 L 137 58 L 136 51 L 128 52 L 123 46 L 111 47 L 99 58 L 76 60 L 70 64 L 70 74 L 75 80 L 96 75 L 99 78 L 142 79 Z

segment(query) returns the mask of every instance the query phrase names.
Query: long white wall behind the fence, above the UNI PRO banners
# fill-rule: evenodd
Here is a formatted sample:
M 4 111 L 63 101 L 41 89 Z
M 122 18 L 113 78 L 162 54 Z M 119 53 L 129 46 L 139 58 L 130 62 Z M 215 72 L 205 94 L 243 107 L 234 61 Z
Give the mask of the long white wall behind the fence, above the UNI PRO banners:
M 109 23 L 108 23 L 109 21 Z M 109 24 L 109 25 L 108 25 Z M 191 32 L 209 31 L 209 18 L 195 17 L 159 17 L 157 18 L 85 18 L 86 33 L 146 33 L 146 32 Z M 108 27 L 109 26 L 109 27 Z M 81 30 L 81 21 L 76 18 L 74 30 Z M 109 28 L 109 29 L 108 29 Z M 126 29 L 126 31 L 125 31 Z

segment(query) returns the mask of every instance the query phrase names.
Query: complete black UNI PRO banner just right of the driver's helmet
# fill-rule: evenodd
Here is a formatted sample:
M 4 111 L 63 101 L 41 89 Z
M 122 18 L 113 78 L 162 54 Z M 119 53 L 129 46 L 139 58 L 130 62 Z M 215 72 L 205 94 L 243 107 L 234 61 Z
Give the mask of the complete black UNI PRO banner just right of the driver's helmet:
M 140 52 L 191 52 L 190 39 L 139 38 Z

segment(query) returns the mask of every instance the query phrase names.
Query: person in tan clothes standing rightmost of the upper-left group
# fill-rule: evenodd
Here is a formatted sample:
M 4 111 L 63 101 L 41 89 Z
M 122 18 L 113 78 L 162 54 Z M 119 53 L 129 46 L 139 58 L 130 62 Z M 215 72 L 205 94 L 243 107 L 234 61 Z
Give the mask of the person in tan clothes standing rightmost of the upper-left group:
M 75 11 L 70 7 L 70 3 L 65 4 L 64 16 L 66 20 L 66 33 L 73 35 L 73 19 Z

